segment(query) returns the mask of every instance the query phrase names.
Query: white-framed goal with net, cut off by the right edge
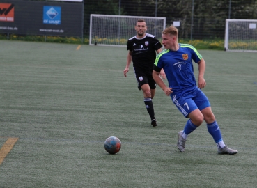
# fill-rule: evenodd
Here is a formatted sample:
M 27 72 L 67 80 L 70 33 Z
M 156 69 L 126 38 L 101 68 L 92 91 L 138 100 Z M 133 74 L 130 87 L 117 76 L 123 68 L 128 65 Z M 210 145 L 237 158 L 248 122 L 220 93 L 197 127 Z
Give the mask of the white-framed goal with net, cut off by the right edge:
M 257 19 L 226 19 L 225 50 L 257 52 Z

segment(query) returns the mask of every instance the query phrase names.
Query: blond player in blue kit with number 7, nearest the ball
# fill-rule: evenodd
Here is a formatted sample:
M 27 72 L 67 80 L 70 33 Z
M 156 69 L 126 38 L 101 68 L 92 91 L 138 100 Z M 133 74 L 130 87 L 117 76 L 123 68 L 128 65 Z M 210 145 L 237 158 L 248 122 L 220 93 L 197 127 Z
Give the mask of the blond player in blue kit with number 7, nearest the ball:
M 185 152 L 187 136 L 205 120 L 208 132 L 217 144 L 218 154 L 236 154 L 237 150 L 225 145 L 219 125 L 212 113 L 210 102 L 201 91 L 201 88 L 206 85 L 203 78 L 205 61 L 201 54 L 192 45 L 178 43 L 178 29 L 175 26 L 164 29 L 162 45 L 164 45 L 165 50 L 155 59 L 153 79 L 167 96 L 171 96 L 171 100 L 185 118 L 189 118 L 184 130 L 178 132 L 178 150 Z M 194 77 L 192 59 L 198 63 L 198 86 Z M 169 82 L 169 87 L 159 77 L 162 68 Z

